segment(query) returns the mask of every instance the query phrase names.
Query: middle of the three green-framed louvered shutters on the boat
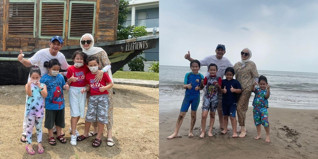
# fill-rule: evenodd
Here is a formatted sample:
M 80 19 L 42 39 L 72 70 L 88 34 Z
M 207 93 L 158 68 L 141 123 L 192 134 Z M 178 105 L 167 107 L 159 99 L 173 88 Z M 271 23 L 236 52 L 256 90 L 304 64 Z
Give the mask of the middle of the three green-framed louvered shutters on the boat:
M 62 36 L 65 33 L 66 1 L 42 1 L 40 6 L 40 38 Z

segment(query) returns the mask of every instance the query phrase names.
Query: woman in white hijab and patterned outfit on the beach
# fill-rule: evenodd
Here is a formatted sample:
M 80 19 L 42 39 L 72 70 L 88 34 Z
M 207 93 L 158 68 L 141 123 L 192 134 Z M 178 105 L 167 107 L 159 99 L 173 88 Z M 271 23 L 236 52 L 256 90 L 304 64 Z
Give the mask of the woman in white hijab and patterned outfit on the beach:
M 241 52 L 241 61 L 237 62 L 234 66 L 235 79 L 239 81 L 242 87 L 242 93 L 239 96 L 237 103 L 237 114 L 239 119 L 239 126 L 241 130 L 238 130 L 238 133 L 241 133 L 239 137 L 245 137 L 245 114 L 248 108 L 248 102 L 252 94 L 252 84 L 254 81 L 258 81 L 259 74 L 257 72 L 256 65 L 251 61 L 252 52 L 250 49 L 245 48 Z

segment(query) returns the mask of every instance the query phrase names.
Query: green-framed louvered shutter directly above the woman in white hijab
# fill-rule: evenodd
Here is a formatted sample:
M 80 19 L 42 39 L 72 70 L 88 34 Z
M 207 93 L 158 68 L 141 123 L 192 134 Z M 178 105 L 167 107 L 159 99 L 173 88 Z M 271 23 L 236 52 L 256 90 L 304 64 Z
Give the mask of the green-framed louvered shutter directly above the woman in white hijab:
M 96 2 L 70 2 L 69 39 L 79 39 L 86 33 L 93 35 L 95 6 Z

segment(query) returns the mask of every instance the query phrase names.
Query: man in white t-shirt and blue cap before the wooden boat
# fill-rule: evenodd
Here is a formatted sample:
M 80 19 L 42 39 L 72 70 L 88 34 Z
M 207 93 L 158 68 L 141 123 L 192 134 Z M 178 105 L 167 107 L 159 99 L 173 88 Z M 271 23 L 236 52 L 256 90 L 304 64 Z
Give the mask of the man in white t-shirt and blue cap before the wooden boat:
M 61 52 L 59 52 L 62 47 L 63 47 L 63 38 L 60 36 L 53 36 L 50 41 L 50 48 L 39 50 L 30 59 L 23 59 L 24 54 L 22 53 L 22 50 L 20 50 L 21 54 L 18 55 L 18 61 L 27 67 L 30 67 L 33 65 L 38 66 L 41 70 L 41 76 L 49 73 L 49 70 L 46 67 L 44 67 L 43 64 L 45 61 L 50 61 L 51 59 L 58 59 L 59 63 L 61 64 L 61 68 L 63 70 L 67 70 L 69 65 L 67 64 L 65 56 Z M 28 81 L 30 81 L 30 76 L 28 78 Z M 20 139 L 21 142 L 26 142 L 26 128 L 27 128 L 27 119 L 24 116 L 23 133 Z M 56 132 L 55 125 L 53 127 L 53 132 Z M 65 133 L 62 132 L 62 135 L 64 136 Z

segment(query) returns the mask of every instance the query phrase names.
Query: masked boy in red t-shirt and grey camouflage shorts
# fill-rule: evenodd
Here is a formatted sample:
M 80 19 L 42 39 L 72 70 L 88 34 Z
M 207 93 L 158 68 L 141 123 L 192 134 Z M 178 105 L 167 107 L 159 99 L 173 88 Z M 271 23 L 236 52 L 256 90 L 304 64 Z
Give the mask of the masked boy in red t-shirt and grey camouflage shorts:
M 103 74 L 101 81 L 95 81 L 95 75 L 100 72 L 98 66 L 100 61 L 97 57 L 91 56 L 87 58 L 87 67 L 91 72 L 86 74 L 86 89 L 91 92 L 88 100 L 86 117 L 85 117 L 85 131 L 83 135 L 77 137 L 77 141 L 83 141 L 88 137 L 91 122 L 98 121 L 98 132 L 95 140 L 92 143 L 93 147 L 99 147 L 101 144 L 101 134 L 104 131 L 104 126 L 108 122 L 108 108 L 109 98 L 108 91 L 114 84 L 107 73 Z M 97 114 L 97 118 L 96 118 Z

